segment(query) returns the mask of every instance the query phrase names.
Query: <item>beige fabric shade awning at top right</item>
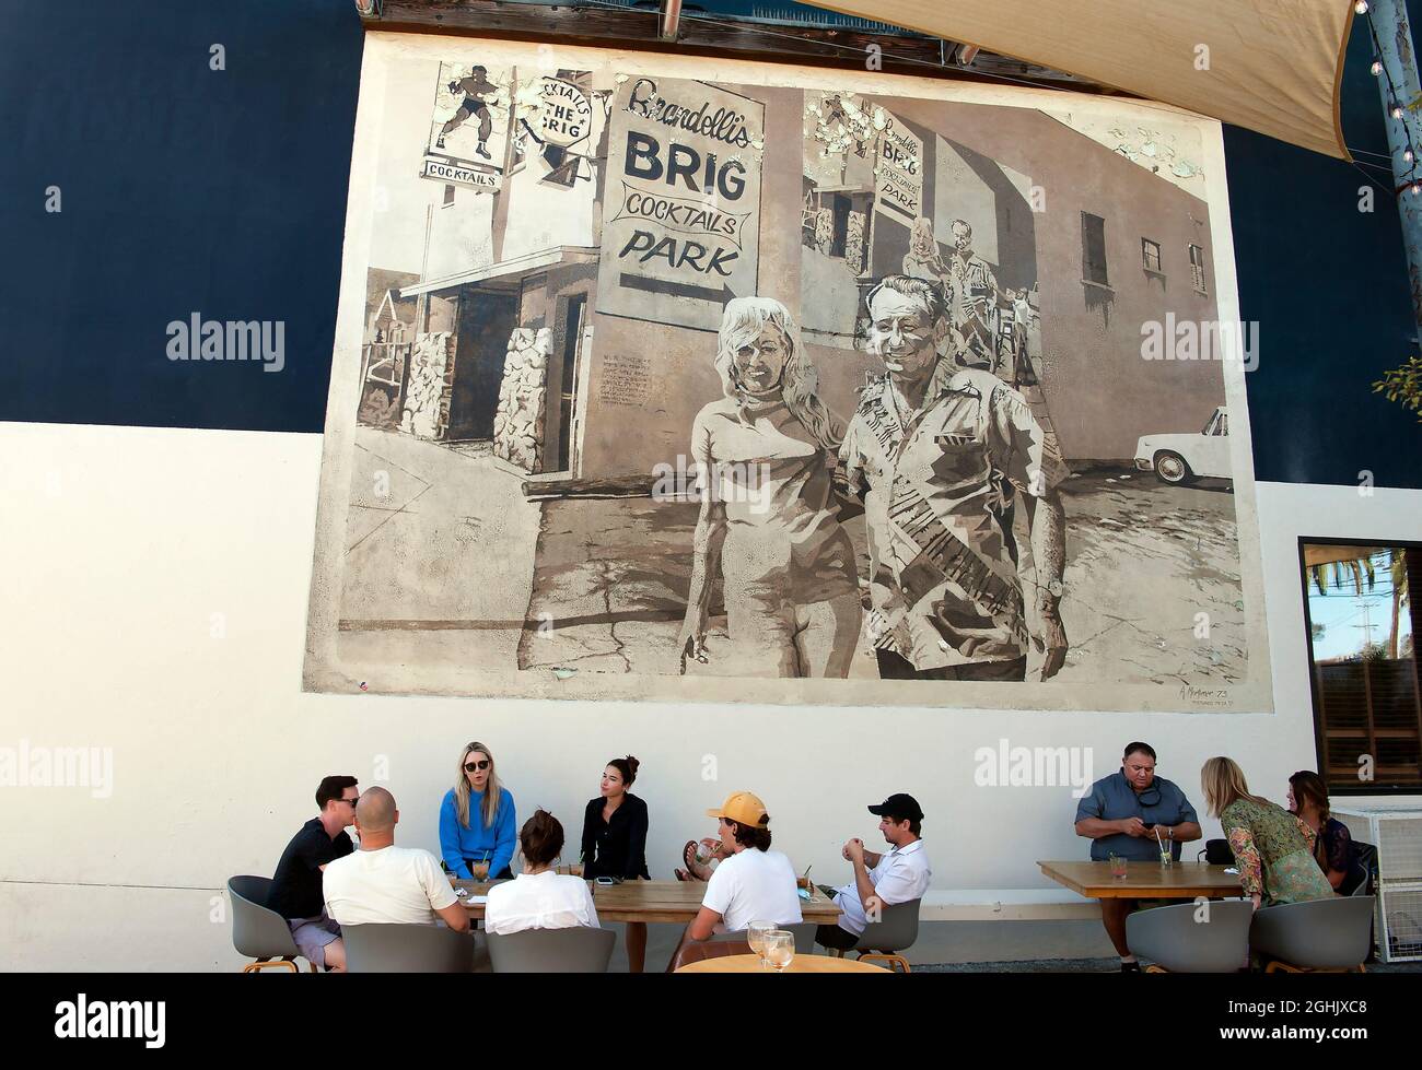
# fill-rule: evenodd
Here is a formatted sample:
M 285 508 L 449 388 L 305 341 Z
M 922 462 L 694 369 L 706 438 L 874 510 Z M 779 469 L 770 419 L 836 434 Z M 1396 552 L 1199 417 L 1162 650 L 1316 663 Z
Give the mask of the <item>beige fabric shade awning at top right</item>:
M 1349 159 L 1338 87 L 1352 0 L 812 0 Z M 1197 45 L 1209 68 L 1196 67 Z

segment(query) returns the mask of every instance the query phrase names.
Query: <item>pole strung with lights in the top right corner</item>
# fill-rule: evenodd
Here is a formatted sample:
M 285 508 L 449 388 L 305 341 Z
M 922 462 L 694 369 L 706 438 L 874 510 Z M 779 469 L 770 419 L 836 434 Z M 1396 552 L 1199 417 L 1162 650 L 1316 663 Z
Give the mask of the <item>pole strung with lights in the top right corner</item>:
M 1388 128 L 1388 148 L 1392 153 L 1392 178 L 1402 217 L 1402 247 L 1408 254 L 1408 276 L 1412 281 L 1412 314 L 1422 342 L 1422 193 L 1413 193 L 1418 182 L 1418 139 L 1411 136 L 1416 126 L 1422 101 L 1418 81 L 1416 51 L 1412 47 L 1412 27 L 1408 24 L 1405 0 L 1371 0 L 1367 16 L 1372 24 L 1374 54 L 1382 64 L 1378 92 L 1382 95 L 1384 122 Z M 1401 108 L 1401 117 L 1395 109 Z M 1412 156 L 1412 159 L 1408 159 Z

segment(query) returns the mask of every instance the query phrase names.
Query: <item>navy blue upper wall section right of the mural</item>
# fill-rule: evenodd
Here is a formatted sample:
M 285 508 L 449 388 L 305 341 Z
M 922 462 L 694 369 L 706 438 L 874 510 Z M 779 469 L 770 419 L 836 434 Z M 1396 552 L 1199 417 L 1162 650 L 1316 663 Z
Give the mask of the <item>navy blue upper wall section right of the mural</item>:
M 1422 3 L 1409 3 L 1422 26 Z M 1342 128 L 1354 149 L 1388 152 L 1368 23 L 1357 18 L 1344 68 Z M 1422 145 L 1418 146 L 1422 151 Z M 1240 310 L 1260 324 L 1249 374 L 1254 473 L 1291 483 L 1422 487 L 1422 426 L 1372 382 L 1416 352 L 1408 264 L 1392 178 L 1224 128 Z M 1361 152 L 1357 159 L 1386 163 Z M 1411 195 L 1406 195 L 1411 196 Z

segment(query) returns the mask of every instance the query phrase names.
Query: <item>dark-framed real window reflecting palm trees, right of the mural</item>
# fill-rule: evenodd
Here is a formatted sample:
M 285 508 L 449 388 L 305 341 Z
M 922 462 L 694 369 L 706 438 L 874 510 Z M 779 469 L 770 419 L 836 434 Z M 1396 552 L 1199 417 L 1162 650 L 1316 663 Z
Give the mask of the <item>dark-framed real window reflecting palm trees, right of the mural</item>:
M 1337 791 L 1422 786 L 1422 544 L 1304 541 L 1318 767 Z

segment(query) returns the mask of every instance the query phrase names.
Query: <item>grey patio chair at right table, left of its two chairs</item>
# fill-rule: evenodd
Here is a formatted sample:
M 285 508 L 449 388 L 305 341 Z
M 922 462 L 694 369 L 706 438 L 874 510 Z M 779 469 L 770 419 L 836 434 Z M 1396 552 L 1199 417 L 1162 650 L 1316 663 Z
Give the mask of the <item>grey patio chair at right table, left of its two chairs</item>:
M 1148 973 L 1233 973 L 1249 955 L 1251 902 L 1207 904 L 1209 921 L 1196 921 L 1193 902 L 1156 907 L 1126 917 L 1126 944 L 1155 965 Z

